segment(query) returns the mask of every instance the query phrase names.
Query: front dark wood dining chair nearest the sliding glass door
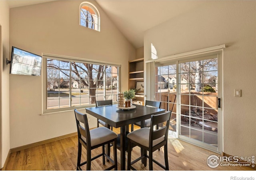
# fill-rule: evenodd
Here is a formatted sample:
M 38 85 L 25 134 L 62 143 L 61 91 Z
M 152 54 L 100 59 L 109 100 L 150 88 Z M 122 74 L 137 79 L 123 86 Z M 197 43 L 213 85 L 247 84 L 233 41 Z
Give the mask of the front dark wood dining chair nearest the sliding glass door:
M 128 160 L 127 170 L 136 170 L 132 165 L 139 160 L 144 159 L 144 166 L 147 165 L 147 158 L 149 159 L 149 170 L 153 170 L 153 162 L 164 170 L 169 170 L 168 165 L 168 130 L 170 124 L 171 111 L 164 112 L 162 114 L 152 115 L 150 119 L 150 128 L 140 128 L 127 135 L 128 138 Z M 160 129 L 154 130 L 154 126 L 157 124 L 164 124 Z M 141 157 L 131 162 L 132 147 L 140 146 L 143 153 Z M 164 162 L 165 166 L 160 162 L 153 159 L 153 152 L 164 146 Z M 148 154 L 147 154 L 148 152 Z

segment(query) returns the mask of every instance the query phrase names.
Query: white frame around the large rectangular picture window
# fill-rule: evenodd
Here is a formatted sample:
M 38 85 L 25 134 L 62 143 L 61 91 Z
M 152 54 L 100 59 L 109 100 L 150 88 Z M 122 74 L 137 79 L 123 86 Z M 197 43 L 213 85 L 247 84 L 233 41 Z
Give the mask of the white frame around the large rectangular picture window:
M 47 109 L 47 59 L 56 59 L 56 60 L 62 60 L 62 61 L 69 61 L 69 62 L 82 62 L 82 63 L 88 63 L 88 64 L 95 64 L 95 65 L 106 65 L 106 66 L 116 66 L 118 67 L 118 76 L 117 76 L 117 81 L 118 81 L 118 88 L 117 88 L 117 93 L 120 91 L 121 87 L 121 64 L 116 64 L 116 63 L 110 63 L 110 62 L 104 62 L 104 61 L 97 61 L 97 60 L 88 60 L 88 59 L 83 59 L 83 58 L 75 58 L 75 57 L 69 57 L 69 56 L 60 56 L 60 55 L 53 55 L 53 54 L 46 54 L 42 53 L 42 114 L 48 114 L 48 113 L 55 113 L 55 112 L 64 112 L 64 111 L 69 111 L 69 110 L 74 110 L 75 108 L 80 109 L 80 108 L 86 108 L 86 107 L 92 107 L 95 106 L 95 104 L 86 104 L 86 105 L 81 105 L 81 106 L 72 106 L 72 104 L 69 105 L 69 107 L 65 108 L 54 108 L 54 109 Z M 70 68 L 71 71 L 71 68 Z M 104 73 L 105 76 L 105 73 Z M 60 79 L 60 77 L 59 77 Z M 71 81 L 71 78 L 70 78 Z M 105 79 L 104 82 L 107 80 Z M 70 86 L 71 87 L 71 86 Z M 69 88 L 70 88 L 69 87 Z M 114 96 L 115 94 L 111 94 Z M 72 98 L 69 97 L 69 100 Z M 97 100 L 97 96 L 96 96 Z M 90 103 L 90 102 L 89 102 Z M 113 104 L 117 103 L 116 101 L 113 102 Z

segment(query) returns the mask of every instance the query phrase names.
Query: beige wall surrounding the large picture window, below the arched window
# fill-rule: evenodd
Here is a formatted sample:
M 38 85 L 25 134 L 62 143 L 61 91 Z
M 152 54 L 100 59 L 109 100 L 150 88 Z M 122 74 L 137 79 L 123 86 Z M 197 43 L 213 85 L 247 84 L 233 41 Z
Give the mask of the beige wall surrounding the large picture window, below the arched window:
M 10 47 L 122 64 L 121 89 L 127 89 L 128 60 L 135 58 L 136 50 L 95 1 L 100 32 L 80 26 L 81 2 L 64 0 L 11 8 Z M 40 115 L 42 88 L 42 76 L 10 74 L 10 148 L 76 132 L 74 111 Z M 96 126 L 95 118 L 89 126 Z

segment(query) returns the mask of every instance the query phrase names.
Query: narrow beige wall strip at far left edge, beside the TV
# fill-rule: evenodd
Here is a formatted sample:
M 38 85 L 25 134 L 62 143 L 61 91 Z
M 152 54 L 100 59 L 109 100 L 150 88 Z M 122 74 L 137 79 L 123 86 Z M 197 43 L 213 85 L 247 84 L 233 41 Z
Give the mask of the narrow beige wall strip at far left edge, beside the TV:
M 0 1 L 0 168 L 10 149 L 9 122 L 9 66 L 6 65 L 9 48 L 9 6 Z

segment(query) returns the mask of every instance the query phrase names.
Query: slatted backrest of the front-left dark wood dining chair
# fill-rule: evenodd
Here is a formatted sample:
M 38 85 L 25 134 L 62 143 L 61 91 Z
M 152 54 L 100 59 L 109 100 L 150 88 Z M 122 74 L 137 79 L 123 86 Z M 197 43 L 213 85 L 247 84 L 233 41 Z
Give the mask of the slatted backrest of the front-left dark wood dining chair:
M 90 137 L 90 129 L 89 129 L 89 125 L 88 125 L 87 115 L 82 114 L 81 112 L 78 112 L 77 109 L 75 109 L 74 111 L 75 111 L 75 117 L 76 117 L 78 139 L 82 140 L 81 136 L 84 136 L 84 138 L 86 138 L 85 143 L 90 146 L 91 137 Z M 82 124 L 80 124 L 80 123 L 84 124 L 84 126 L 82 126 Z

